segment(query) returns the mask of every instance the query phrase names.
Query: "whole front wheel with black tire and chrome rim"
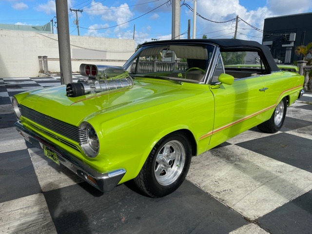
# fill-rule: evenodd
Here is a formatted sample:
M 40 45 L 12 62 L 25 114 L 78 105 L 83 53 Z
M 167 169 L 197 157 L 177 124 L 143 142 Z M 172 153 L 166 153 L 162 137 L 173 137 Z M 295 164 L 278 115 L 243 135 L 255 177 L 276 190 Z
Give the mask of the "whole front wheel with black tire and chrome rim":
M 191 144 L 186 135 L 172 133 L 157 142 L 134 182 L 151 197 L 169 195 L 184 181 L 191 157 Z

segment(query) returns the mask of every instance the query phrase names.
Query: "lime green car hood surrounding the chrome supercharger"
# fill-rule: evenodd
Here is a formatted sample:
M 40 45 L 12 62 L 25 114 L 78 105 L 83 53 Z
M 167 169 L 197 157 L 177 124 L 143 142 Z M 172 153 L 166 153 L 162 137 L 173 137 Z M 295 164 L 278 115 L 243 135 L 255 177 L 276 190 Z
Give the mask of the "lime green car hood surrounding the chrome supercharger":
M 70 98 L 66 96 L 66 86 L 61 85 L 31 91 L 20 104 L 78 126 L 81 121 L 99 113 L 107 113 L 103 115 L 102 120 L 105 121 L 150 106 L 194 96 L 199 91 L 190 92 L 192 89 L 188 89 L 185 92 L 183 86 L 184 84 L 173 81 L 137 78 L 132 88 Z

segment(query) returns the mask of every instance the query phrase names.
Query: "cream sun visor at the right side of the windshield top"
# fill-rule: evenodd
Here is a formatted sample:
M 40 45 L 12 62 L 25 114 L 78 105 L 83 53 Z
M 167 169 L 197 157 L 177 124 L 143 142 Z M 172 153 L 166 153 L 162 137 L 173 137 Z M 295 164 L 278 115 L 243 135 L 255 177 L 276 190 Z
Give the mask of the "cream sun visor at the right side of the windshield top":
M 177 58 L 208 59 L 208 51 L 202 46 L 170 45 L 169 50 L 175 51 Z

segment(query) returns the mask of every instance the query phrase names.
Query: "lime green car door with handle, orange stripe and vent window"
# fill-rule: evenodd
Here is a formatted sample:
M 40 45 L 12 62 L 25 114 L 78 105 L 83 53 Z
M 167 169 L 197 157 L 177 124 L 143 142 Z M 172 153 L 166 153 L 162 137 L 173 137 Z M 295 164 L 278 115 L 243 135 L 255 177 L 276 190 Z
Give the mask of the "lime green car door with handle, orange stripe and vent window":
M 214 130 L 208 149 L 257 125 L 265 108 L 264 82 L 261 76 L 234 78 L 232 85 L 217 82 L 224 65 L 219 54 L 210 89 L 215 98 Z

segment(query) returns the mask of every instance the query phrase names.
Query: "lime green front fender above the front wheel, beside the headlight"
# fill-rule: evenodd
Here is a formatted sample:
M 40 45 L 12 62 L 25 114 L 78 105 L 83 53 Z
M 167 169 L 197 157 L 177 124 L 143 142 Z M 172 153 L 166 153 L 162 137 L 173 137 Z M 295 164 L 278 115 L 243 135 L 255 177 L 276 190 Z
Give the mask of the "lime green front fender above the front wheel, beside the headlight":
M 99 154 L 86 163 L 99 171 L 125 168 L 120 183 L 135 178 L 156 143 L 168 134 L 189 130 L 195 141 L 213 128 L 214 100 L 199 95 L 127 113 L 107 121 L 101 115 L 88 120 L 100 141 Z M 209 137 L 197 149 L 207 148 Z

